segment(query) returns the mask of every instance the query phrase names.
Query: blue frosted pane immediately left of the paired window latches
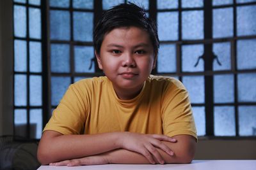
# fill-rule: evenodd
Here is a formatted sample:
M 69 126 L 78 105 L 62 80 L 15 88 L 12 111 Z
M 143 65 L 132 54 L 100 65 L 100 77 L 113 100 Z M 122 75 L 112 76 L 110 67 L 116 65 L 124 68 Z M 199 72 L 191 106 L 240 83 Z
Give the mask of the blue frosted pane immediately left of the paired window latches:
M 182 71 L 204 71 L 204 60 L 200 59 L 195 67 L 198 57 L 204 53 L 204 45 L 182 45 Z

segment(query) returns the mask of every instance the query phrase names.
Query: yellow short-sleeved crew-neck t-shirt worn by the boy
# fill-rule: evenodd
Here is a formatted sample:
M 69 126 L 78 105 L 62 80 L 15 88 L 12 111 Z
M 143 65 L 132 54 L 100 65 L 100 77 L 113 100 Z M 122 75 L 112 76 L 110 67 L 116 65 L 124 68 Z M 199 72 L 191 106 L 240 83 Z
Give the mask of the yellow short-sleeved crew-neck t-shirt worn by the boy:
M 150 75 L 138 96 L 120 100 L 106 76 L 70 85 L 44 131 L 139 132 L 196 137 L 188 92 L 179 80 Z

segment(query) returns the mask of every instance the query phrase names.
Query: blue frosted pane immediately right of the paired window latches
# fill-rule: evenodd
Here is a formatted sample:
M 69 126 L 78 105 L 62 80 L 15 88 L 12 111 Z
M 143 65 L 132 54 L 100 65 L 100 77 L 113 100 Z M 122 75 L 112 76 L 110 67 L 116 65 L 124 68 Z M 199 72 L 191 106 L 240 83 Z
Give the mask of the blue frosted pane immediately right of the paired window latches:
M 221 63 L 221 66 L 218 64 L 217 60 L 214 59 L 213 70 L 230 70 L 231 69 L 231 49 L 230 43 L 214 43 L 213 52 L 216 55 Z

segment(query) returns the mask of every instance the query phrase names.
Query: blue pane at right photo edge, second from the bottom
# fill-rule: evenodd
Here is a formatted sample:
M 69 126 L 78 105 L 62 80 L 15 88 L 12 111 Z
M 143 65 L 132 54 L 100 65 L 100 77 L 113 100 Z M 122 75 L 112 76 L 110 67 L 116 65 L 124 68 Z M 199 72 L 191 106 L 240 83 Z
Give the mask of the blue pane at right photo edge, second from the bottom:
M 238 101 L 256 102 L 256 73 L 238 74 Z

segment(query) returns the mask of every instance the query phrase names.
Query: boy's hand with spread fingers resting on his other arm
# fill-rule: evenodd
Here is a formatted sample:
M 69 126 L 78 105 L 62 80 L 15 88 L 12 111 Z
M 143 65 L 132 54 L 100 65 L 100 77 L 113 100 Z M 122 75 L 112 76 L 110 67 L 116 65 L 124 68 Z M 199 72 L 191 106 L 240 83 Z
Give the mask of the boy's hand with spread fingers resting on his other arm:
M 124 132 L 120 136 L 118 143 L 121 148 L 141 153 L 151 164 L 164 164 L 164 159 L 156 148 L 163 150 L 169 155 L 173 155 L 173 151 L 161 141 L 176 142 L 177 140 L 170 136 L 162 134 L 139 134 L 134 132 Z

